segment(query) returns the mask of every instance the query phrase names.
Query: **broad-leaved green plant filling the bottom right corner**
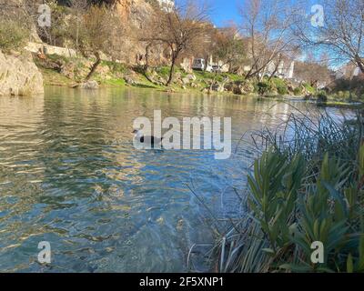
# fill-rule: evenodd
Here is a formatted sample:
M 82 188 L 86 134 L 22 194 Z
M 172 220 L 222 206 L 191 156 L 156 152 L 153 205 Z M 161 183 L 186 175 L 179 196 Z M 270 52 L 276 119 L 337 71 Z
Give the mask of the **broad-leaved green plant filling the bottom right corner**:
M 360 153 L 364 153 L 364 146 Z M 325 156 L 317 183 L 309 185 L 307 193 L 298 199 L 298 227 L 291 242 L 301 254 L 300 264 L 280 267 L 291 271 L 364 271 L 362 193 L 358 184 L 345 186 L 347 174 L 345 163 Z M 311 245 L 317 241 L 325 247 L 323 264 L 310 261 Z

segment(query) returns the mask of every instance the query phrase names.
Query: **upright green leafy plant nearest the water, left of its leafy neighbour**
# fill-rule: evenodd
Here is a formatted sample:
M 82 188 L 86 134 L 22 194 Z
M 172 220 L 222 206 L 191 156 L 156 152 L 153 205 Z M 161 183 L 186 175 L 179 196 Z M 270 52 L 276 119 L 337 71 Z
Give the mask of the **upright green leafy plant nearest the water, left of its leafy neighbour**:
M 288 162 L 287 156 L 269 151 L 256 161 L 254 177 L 248 177 L 248 206 L 268 236 L 272 249 L 266 251 L 275 256 L 289 244 L 304 164 L 301 155 Z

